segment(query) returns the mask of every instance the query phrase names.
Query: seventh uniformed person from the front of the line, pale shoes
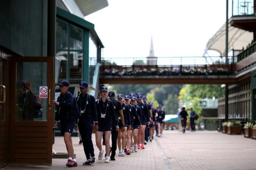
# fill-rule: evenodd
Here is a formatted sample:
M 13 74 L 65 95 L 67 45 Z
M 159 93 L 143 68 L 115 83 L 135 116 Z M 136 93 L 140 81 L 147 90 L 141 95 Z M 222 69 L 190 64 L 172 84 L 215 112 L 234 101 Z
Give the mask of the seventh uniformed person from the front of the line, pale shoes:
M 137 105 L 137 98 L 133 97 L 131 99 L 132 106 L 136 109 L 136 114 L 139 120 L 133 119 L 133 139 L 134 139 L 134 152 L 138 152 L 138 132 L 141 130 L 142 113 L 140 106 Z

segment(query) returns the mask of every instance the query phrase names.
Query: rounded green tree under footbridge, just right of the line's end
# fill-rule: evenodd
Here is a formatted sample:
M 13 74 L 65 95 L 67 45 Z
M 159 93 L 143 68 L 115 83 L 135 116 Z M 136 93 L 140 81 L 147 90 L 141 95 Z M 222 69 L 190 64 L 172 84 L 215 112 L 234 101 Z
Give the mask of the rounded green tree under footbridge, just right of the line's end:
M 167 100 L 164 101 L 163 109 L 166 115 L 177 114 L 179 104 L 177 102 L 178 95 L 169 94 Z

